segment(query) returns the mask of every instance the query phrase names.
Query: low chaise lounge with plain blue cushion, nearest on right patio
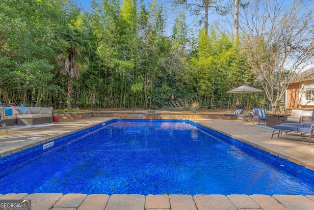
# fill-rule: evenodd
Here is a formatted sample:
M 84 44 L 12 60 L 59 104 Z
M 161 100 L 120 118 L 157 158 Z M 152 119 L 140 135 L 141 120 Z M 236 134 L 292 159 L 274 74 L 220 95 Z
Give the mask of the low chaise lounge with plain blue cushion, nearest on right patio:
M 285 133 L 293 132 L 300 134 L 309 134 L 309 145 L 311 144 L 311 137 L 314 135 L 314 117 L 304 116 L 300 119 L 301 123 L 283 123 L 279 125 L 274 125 L 274 130 L 271 135 L 271 139 L 275 134 L 282 135 L 283 131 Z

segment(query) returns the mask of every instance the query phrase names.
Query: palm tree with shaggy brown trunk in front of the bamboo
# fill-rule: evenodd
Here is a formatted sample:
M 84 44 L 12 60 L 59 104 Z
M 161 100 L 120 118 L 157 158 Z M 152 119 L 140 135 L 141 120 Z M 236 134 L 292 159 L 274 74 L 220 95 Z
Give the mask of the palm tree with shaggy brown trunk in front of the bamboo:
M 61 65 L 60 74 L 68 76 L 68 109 L 71 108 L 73 94 L 73 79 L 79 77 L 79 73 L 83 68 L 87 68 L 88 57 L 84 53 L 88 53 L 90 49 L 89 40 L 84 39 L 83 32 L 72 30 L 67 27 L 59 36 L 60 49 L 62 52 L 57 56 L 57 60 Z M 76 56 L 84 60 L 79 62 Z

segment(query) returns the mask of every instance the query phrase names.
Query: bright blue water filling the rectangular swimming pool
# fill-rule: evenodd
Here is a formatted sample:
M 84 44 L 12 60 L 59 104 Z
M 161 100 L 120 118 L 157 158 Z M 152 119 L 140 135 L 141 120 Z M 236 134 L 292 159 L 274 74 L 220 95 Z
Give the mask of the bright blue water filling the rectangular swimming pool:
M 0 194 L 314 195 L 312 171 L 186 120 L 112 120 L 53 143 L 0 158 Z

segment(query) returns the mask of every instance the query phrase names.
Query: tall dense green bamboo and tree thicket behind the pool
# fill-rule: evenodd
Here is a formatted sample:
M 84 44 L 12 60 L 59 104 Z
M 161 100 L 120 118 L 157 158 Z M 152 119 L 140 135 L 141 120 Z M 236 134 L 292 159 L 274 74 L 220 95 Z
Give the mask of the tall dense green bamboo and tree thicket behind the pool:
M 255 85 L 230 31 L 167 19 L 156 0 L 0 2 L 0 100 L 57 109 L 225 109 L 236 86 Z M 169 25 L 171 22 L 171 27 Z M 257 86 L 255 86 L 257 87 Z M 259 87 L 257 87 L 259 88 Z M 264 94 L 235 97 L 264 106 Z M 241 104 L 240 104 L 241 105 Z

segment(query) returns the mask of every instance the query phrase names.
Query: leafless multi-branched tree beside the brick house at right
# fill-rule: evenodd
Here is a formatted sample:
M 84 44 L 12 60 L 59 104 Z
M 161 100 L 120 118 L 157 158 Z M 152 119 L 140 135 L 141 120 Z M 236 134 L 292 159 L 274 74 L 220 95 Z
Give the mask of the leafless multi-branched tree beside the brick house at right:
M 243 55 L 272 107 L 314 61 L 313 12 L 306 0 L 253 0 L 242 13 Z

